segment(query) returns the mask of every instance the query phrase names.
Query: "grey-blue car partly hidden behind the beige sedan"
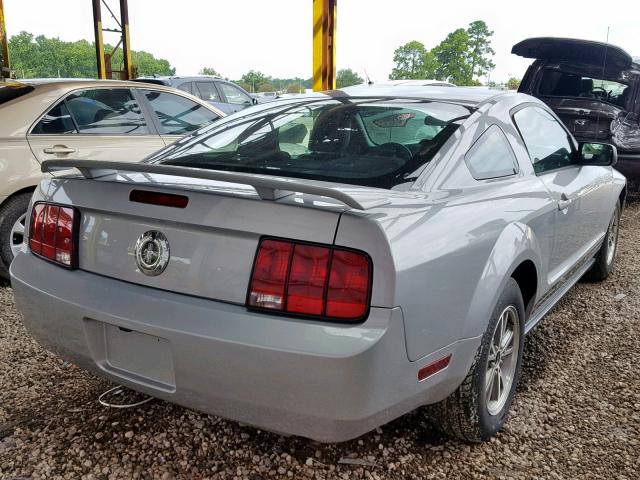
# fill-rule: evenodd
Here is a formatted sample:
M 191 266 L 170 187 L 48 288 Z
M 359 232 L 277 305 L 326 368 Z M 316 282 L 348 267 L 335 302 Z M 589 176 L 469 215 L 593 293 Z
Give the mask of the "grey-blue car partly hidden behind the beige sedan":
M 134 82 L 178 88 L 209 102 L 226 114 L 238 112 L 260 101 L 233 82 L 211 75 L 193 77 L 139 77 Z

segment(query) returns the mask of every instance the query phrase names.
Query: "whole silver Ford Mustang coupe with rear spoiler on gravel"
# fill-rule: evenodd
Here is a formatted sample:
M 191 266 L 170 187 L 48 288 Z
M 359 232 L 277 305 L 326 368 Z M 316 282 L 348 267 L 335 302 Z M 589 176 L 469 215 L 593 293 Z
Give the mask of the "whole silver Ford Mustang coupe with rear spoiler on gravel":
M 319 441 L 420 406 L 482 441 L 524 336 L 613 268 L 625 179 L 523 94 L 357 87 L 255 106 L 142 163 L 52 160 L 11 265 L 44 346 Z

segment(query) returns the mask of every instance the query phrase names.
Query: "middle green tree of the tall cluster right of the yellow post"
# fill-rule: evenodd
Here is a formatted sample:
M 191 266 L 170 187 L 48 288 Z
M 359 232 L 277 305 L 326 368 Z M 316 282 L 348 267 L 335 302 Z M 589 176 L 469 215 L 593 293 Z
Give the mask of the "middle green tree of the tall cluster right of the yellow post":
M 433 49 L 438 62 L 436 78 L 456 85 L 473 85 L 471 65 L 467 62 L 469 34 L 464 28 L 454 30 Z

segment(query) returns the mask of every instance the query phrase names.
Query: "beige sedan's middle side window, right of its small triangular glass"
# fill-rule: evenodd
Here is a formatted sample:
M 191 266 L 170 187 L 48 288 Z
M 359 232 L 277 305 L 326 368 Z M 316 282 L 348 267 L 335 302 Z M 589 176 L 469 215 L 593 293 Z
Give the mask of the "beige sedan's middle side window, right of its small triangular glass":
M 138 102 L 126 88 L 101 88 L 72 93 L 67 107 L 80 133 L 149 133 Z

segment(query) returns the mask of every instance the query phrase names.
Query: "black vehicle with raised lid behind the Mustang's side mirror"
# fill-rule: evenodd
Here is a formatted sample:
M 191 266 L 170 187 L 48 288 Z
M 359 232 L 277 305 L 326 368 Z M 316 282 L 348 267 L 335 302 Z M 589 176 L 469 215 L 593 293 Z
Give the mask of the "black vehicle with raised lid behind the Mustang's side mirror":
M 615 145 L 616 169 L 640 182 L 640 58 L 608 43 L 553 37 L 523 40 L 511 53 L 536 59 L 518 91 L 549 105 L 578 141 Z

